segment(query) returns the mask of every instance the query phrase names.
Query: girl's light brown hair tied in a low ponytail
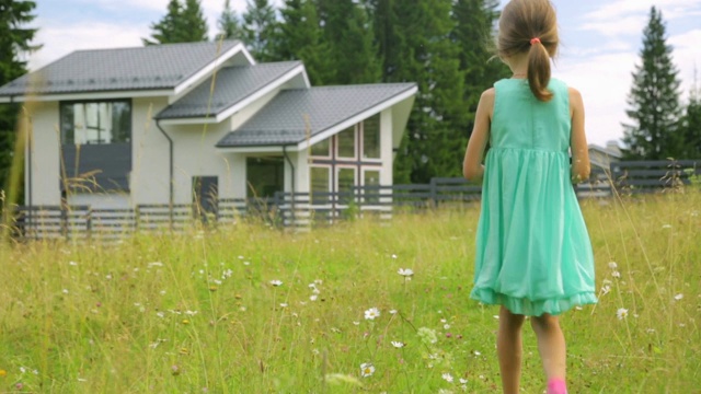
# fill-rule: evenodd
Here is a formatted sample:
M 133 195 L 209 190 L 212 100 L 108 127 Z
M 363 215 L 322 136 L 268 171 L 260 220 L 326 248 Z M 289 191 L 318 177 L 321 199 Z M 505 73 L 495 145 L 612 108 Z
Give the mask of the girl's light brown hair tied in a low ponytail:
M 528 53 L 528 84 L 543 102 L 552 99 L 548 90 L 550 59 L 558 53 L 559 42 L 558 16 L 549 0 L 512 0 L 502 11 L 497 54 L 506 58 Z

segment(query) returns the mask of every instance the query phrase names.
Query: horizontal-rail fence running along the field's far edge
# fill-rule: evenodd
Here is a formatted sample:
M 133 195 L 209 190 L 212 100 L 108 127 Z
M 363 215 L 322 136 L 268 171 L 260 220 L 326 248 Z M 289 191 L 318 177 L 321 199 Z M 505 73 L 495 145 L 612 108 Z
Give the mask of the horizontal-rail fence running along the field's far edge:
M 607 197 L 614 190 L 650 193 L 701 179 L 701 161 L 619 162 L 595 170 L 575 186 L 579 198 Z M 398 210 L 425 210 L 481 198 L 482 188 L 462 178 L 430 179 L 425 185 L 355 187 L 343 193 L 276 193 L 267 199 L 222 198 L 205 210 L 197 205 L 138 205 L 134 209 L 90 206 L 15 207 L 13 234 L 20 239 L 115 241 L 134 232 L 180 231 L 193 224 L 233 224 L 254 217 L 271 224 L 308 229 L 354 217 L 388 220 Z

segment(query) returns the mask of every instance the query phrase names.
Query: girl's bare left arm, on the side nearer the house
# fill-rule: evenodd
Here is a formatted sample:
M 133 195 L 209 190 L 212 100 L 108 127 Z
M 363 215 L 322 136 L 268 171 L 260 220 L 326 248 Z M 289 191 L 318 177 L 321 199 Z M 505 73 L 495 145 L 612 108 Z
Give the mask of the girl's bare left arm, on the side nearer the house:
M 474 115 L 474 128 L 468 142 L 468 149 L 464 152 L 464 161 L 462 162 L 462 175 L 473 182 L 482 181 L 484 175 L 484 166 L 482 165 L 482 157 L 484 148 L 490 140 L 490 126 L 492 124 L 492 114 L 494 112 L 494 88 L 482 93 L 478 112 Z

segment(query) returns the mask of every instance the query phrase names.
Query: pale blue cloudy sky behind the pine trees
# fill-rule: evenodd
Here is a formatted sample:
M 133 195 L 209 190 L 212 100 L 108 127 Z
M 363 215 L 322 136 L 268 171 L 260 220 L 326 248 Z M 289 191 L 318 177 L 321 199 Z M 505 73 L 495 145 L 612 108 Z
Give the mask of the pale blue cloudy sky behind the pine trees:
M 38 27 L 35 43 L 43 48 L 30 57 L 36 70 L 78 49 L 141 46 L 150 25 L 166 11 L 168 0 L 35 0 Z M 507 0 L 502 0 L 502 5 Z M 578 89 L 585 101 L 589 143 L 605 146 L 620 140 L 631 72 L 640 63 L 643 28 L 652 5 L 662 10 L 667 24 L 667 44 L 686 103 L 701 68 L 701 0 L 553 0 L 562 40 L 553 77 Z M 241 15 L 246 0 L 231 0 Z M 273 0 L 279 5 L 281 0 Z M 202 0 L 210 36 L 223 0 Z M 701 83 L 699 84 L 701 86 Z

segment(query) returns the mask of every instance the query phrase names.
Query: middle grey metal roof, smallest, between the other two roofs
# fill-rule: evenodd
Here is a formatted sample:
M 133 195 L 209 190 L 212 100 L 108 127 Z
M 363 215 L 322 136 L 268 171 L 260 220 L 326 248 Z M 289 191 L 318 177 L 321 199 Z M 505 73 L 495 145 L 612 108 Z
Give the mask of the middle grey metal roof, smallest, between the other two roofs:
M 214 92 L 210 92 L 212 78 L 209 78 L 184 97 L 161 111 L 156 118 L 216 116 L 299 66 L 301 61 L 223 68 L 212 77 L 216 78 Z M 210 95 L 211 102 L 209 102 Z M 209 112 L 207 112 L 208 105 Z

